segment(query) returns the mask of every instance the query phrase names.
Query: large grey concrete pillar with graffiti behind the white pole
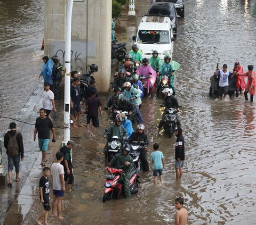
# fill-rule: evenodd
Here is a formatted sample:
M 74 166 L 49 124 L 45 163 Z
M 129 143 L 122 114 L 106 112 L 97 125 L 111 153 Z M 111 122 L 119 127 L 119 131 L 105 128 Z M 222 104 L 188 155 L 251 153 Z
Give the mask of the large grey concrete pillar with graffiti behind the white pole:
M 65 68 L 66 0 L 45 1 L 45 55 L 58 55 Z M 100 93 L 109 90 L 111 77 L 111 0 L 74 1 L 71 23 L 71 71 L 85 73 L 86 66 L 98 65 L 94 73 Z

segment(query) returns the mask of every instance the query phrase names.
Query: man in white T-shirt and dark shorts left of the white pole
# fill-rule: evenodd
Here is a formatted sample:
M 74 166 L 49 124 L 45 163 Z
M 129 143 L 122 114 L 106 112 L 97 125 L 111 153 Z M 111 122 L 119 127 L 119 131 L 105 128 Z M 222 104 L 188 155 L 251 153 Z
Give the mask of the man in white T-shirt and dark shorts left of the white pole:
M 53 110 L 53 112 L 57 112 L 55 108 L 55 103 L 54 103 L 54 94 L 50 90 L 50 84 L 48 82 L 44 83 L 44 92 L 43 92 L 43 108 L 46 111 L 46 116 L 48 116 L 51 120 L 50 113 Z

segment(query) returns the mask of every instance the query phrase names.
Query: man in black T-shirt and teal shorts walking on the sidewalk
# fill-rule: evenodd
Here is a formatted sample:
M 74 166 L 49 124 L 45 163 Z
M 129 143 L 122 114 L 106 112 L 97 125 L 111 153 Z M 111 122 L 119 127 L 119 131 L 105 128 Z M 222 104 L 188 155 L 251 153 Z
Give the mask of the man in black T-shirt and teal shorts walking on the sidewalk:
M 41 165 L 45 166 L 45 162 L 47 161 L 46 152 L 48 150 L 48 144 L 50 141 L 50 130 L 52 131 L 53 140 L 56 138 L 56 135 L 52 120 L 49 117 L 46 117 L 45 109 L 40 109 L 39 114 L 40 116 L 36 119 L 34 141 L 36 141 L 36 134 L 38 132 L 38 145 L 40 151 L 42 151 Z

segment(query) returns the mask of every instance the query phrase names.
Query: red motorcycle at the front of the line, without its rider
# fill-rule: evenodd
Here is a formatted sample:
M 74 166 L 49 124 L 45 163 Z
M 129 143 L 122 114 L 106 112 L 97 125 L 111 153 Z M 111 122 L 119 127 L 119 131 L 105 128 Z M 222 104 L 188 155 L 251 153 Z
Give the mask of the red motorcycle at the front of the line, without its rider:
M 139 176 L 137 171 L 138 169 L 133 167 L 130 172 L 129 187 L 131 190 L 131 194 L 138 192 L 138 184 L 140 184 L 140 181 L 138 180 Z M 119 181 L 123 170 L 108 168 L 108 172 L 110 174 L 107 174 L 105 176 L 106 188 L 104 190 L 102 202 L 106 202 L 107 200 L 112 198 L 119 199 L 125 196 L 122 181 Z

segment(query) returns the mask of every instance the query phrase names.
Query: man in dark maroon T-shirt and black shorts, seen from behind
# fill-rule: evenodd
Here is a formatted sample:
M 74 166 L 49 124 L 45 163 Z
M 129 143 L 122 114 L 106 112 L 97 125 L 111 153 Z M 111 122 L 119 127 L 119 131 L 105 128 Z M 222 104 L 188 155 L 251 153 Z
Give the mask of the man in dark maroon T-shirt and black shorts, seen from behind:
M 96 134 L 96 128 L 100 126 L 99 124 L 99 111 L 100 115 L 102 115 L 101 110 L 101 102 L 100 98 L 96 97 L 97 90 L 92 89 L 91 90 L 92 96 L 87 98 L 85 110 L 87 111 L 87 131 L 90 131 L 90 120 L 92 120 L 92 126 L 93 126 L 93 137 L 95 137 Z

